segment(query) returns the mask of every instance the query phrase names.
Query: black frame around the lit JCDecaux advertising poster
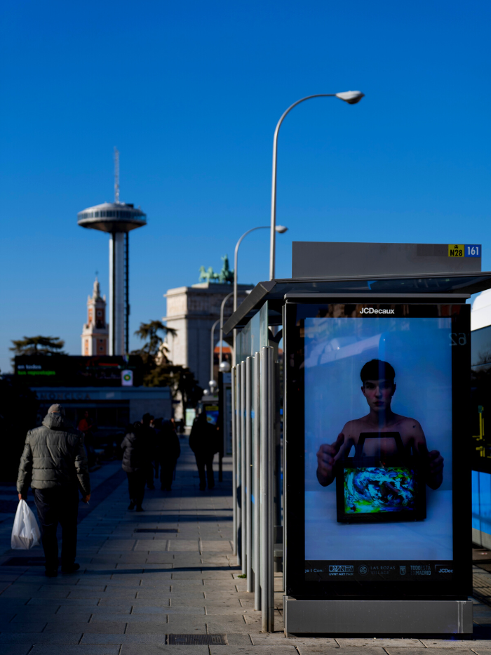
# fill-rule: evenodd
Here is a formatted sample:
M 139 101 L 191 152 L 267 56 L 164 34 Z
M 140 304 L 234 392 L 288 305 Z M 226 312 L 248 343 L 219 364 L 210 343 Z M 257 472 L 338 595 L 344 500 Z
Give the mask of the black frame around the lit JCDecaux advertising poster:
M 320 567 L 315 576 L 305 557 L 305 319 L 315 317 L 346 317 L 350 320 L 370 320 L 371 317 L 394 316 L 407 318 L 450 319 L 448 344 L 451 352 L 452 395 L 452 562 L 445 560 L 438 569 L 438 560 L 422 564 L 427 576 L 412 574 L 417 562 L 394 560 L 394 567 L 375 576 L 372 568 L 383 569 L 381 560 L 371 557 L 370 543 L 366 556 L 360 560 L 336 562 L 325 558 L 331 567 L 349 571 L 346 576 L 329 576 Z M 469 431 L 470 378 L 470 305 L 419 302 L 388 303 L 387 300 L 329 300 L 319 303 L 285 304 L 285 593 L 297 599 L 326 600 L 358 599 L 446 599 L 466 600 L 471 593 L 471 464 Z M 445 328 L 446 329 L 446 328 Z M 446 337 L 445 337 L 446 338 Z M 358 385 L 359 389 L 359 385 Z M 450 421 L 450 418 L 449 418 Z M 336 481 L 334 482 L 334 487 Z M 386 524 L 389 527 L 390 523 Z M 319 529 L 329 530 L 328 525 Z M 349 533 L 347 532 L 347 535 Z M 354 533 L 351 533 L 354 534 Z M 392 563 L 392 562 L 390 562 Z M 310 562 L 311 564 L 311 562 Z M 396 569 L 396 570 L 394 570 Z M 438 570 L 437 570 L 438 569 Z M 368 574 L 367 574 L 368 571 Z M 315 578 L 315 579 L 313 579 Z

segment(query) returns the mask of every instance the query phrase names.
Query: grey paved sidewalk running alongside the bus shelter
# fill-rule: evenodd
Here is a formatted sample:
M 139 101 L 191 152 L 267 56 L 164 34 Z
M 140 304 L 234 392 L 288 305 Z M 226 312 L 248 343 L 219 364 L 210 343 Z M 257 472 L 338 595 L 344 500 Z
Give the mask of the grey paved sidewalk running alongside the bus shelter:
M 0 655 L 438 655 L 449 649 L 491 655 L 491 609 L 477 601 L 473 641 L 287 639 L 281 632 L 279 576 L 278 632 L 260 634 L 260 613 L 253 611 L 245 581 L 237 578 L 232 555 L 230 463 L 224 465 L 224 482 L 201 492 L 184 439 L 182 446 L 173 491 L 147 491 L 144 513 L 127 510 L 123 482 L 83 517 L 81 571 L 49 579 L 41 566 L 2 564 L 34 551 L 4 553 Z M 483 593 L 491 589 L 487 571 L 476 568 L 476 578 Z M 183 644 L 210 635 L 217 635 L 215 644 Z

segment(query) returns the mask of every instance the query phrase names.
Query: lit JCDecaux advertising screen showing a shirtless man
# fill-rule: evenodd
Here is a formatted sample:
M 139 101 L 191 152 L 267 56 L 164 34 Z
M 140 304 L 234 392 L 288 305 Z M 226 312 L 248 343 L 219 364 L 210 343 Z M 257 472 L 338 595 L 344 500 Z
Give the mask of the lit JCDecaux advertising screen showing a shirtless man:
M 302 494 L 290 509 L 304 528 L 290 580 L 323 593 L 349 583 L 361 595 L 391 583 L 409 594 L 438 584 L 457 593 L 470 549 L 469 306 L 339 303 L 288 313 L 287 396 L 297 388 L 303 411 L 290 422 L 287 398 L 287 489 L 288 460 L 302 456 Z

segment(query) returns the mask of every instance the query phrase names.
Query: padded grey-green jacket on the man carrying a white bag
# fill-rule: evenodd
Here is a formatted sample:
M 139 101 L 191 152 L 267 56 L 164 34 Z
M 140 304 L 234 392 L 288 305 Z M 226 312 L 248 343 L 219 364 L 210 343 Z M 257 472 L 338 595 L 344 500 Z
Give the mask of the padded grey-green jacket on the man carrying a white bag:
M 40 428 L 27 432 L 17 478 L 18 493 L 25 496 L 29 484 L 32 489 L 78 485 L 83 496 L 90 494 L 83 435 L 61 414 L 46 414 Z

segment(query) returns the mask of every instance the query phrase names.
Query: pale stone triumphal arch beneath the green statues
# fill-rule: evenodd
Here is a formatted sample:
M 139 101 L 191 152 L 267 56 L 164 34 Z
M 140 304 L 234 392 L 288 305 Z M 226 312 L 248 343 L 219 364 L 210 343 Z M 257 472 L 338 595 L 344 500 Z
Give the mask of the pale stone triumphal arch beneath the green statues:
M 205 389 L 210 381 L 211 328 L 220 319 L 220 305 L 231 291 L 231 284 L 201 282 L 192 286 L 168 289 L 167 315 L 163 321 L 177 330 L 176 336 L 167 337 L 168 357 L 173 364 L 188 366 L 199 385 Z M 238 284 L 237 303 L 248 295 L 253 284 Z M 232 314 L 233 297 L 224 307 L 224 322 Z M 220 341 L 220 323 L 215 327 L 215 345 Z

